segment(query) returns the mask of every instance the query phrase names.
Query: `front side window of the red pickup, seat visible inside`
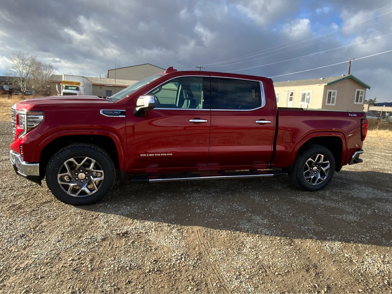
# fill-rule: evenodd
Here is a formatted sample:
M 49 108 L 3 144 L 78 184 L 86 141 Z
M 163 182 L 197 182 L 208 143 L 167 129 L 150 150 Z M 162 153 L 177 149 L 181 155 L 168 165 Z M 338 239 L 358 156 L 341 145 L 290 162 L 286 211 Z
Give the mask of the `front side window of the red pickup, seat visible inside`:
M 156 108 L 207 109 L 202 76 L 183 76 L 164 83 L 150 91 L 156 99 Z

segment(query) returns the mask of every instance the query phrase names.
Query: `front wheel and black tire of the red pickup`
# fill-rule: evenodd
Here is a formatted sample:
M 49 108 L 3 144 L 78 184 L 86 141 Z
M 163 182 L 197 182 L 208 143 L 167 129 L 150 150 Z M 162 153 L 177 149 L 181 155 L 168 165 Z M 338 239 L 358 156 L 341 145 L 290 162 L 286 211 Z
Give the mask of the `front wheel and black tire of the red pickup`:
M 77 172 L 73 170 L 81 163 L 83 165 Z M 86 205 L 109 193 L 115 172 L 113 160 L 106 151 L 95 145 L 75 143 L 54 154 L 46 168 L 46 183 L 58 200 L 71 205 Z

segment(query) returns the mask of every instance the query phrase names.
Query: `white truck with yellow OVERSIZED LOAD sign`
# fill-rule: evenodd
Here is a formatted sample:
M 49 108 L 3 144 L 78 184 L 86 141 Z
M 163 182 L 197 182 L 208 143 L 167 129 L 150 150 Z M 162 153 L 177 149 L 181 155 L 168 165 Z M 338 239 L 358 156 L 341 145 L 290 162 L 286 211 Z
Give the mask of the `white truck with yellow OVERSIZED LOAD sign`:
M 63 74 L 62 96 L 93 95 L 93 83 L 84 76 Z

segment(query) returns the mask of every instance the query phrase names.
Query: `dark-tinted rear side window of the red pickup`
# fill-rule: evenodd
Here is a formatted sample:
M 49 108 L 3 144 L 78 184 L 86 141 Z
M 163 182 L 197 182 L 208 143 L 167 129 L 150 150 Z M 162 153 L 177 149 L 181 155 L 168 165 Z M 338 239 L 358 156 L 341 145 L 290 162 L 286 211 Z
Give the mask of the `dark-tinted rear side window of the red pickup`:
M 246 110 L 260 106 L 259 82 L 211 78 L 211 109 Z

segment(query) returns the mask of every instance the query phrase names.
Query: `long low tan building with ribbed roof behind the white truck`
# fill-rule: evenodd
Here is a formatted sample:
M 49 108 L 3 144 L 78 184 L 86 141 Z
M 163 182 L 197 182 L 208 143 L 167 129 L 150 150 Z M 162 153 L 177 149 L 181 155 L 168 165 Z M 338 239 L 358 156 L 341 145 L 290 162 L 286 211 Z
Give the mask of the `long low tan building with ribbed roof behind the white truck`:
M 86 76 L 93 84 L 93 96 L 107 97 L 121 91 L 122 89 L 133 85 L 135 80 L 111 79 L 111 78 L 96 78 L 93 76 Z M 50 92 L 49 96 L 57 95 L 57 89 L 61 89 L 61 82 L 63 80 L 62 74 L 52 74 L 49 79 Z

